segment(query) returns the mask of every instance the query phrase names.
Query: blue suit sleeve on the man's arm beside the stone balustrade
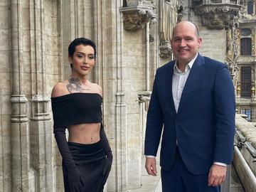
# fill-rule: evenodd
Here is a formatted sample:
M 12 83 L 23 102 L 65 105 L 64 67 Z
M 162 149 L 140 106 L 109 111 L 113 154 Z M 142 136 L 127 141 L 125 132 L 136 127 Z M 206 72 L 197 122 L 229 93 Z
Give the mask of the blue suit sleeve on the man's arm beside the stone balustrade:
M 215 98 L 215 151 L 214 161 L 230 164 L 235 134 L 235 92 L 228 68 L 217 70 Z

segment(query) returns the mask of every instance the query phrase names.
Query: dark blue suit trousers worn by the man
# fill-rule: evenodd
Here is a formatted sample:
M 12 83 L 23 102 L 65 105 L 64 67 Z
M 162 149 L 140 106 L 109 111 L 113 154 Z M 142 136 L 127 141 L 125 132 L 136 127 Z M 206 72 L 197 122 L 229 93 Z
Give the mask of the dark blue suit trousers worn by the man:
M 163 192 L 220 192 L 220 186 L 208 186 L 207 175 L 194 175 L 186 169 L 178 149 L 171 170 L 161 169 Z

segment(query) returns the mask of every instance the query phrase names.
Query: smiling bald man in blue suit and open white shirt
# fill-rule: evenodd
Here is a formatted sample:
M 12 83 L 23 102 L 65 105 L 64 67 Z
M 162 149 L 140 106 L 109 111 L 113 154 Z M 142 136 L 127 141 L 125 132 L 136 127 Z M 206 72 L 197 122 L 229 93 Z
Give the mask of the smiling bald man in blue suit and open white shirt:
M 156 176 L 161 139 L 164 192 L 220 191 L 231 163 L 235 94 L 225 64 L 198 53 L 198 28 L 182 21 L 171 47 L 176 60 L 158 70 L 146 120 L 146 171 Z

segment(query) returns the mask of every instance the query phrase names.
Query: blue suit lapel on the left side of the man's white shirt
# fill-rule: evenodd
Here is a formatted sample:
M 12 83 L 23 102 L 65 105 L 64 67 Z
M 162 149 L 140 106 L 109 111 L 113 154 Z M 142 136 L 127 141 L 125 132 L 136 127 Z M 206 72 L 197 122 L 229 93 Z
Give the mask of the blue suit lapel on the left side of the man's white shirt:
M 175 106 L 174 106 L 174 97 L 172 94 L 172 78 L 174 74 L 174 63 L 172 61 L 169 65 L 169 68 L 165 71 L 165 90 L 166 90 L 166 98 L 169 105 L 171 105 L 171 110 L 176 114 Z

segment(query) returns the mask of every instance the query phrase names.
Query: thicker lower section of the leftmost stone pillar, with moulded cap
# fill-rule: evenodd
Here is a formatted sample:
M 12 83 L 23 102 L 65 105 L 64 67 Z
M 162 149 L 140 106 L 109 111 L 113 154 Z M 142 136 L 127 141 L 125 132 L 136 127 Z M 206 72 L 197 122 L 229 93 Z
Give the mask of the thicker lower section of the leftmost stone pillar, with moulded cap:
M 28 191 L 29 188 L 27 102 L 25 95 L 11 95 L 11 191 Z

